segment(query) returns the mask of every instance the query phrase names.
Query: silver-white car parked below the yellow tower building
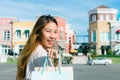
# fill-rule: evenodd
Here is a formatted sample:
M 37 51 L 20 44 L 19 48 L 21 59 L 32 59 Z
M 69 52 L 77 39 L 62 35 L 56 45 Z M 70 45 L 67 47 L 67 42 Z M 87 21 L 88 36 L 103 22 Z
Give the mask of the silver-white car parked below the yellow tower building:
M 112 60 L 108 59 L 106 57 L 98 57 L 94 60 L 88 60 L 88 64 L 90 64 L 90 65 L 95 65 L 95 64 L 109 65 L 109 64 L 112 64 Z

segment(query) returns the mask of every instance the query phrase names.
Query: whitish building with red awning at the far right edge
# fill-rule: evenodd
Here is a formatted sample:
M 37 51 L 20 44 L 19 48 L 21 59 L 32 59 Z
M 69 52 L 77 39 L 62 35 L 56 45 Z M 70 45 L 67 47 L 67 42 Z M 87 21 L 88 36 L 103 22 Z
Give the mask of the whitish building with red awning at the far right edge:
M 120 55 L 120 21 L 110 22 L 111 48 Z

